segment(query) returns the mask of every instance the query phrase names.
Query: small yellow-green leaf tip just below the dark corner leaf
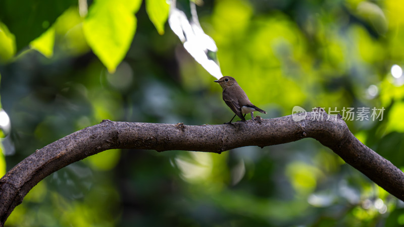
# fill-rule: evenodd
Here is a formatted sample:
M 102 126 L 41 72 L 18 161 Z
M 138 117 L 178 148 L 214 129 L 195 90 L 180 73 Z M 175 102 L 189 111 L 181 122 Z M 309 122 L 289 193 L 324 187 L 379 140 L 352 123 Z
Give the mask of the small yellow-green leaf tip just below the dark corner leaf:
M 46 58 L 51 58 L 54 55 L 54 44 L 55 44 L 55 28 L 49 28 L 45 33 L 43 33 L 38 38 L 34 39 L 30 46 L 42 53 Z

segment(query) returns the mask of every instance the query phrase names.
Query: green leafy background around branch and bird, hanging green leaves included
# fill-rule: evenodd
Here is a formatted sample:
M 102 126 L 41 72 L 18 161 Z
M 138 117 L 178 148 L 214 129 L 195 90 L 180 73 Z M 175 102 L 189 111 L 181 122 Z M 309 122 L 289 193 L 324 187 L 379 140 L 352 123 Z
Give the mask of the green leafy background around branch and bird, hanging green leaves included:
M 382 121 L 346 123 L 404 169 L 404 5 L 197 2 L 223 73 L 269 112 L 262 117 L 290 115 L 295 105 L 341 114 L 383 107 Z M 221 88 L 168 29 L 167 12 L 157 0 L 1 1 L 0 95 L 11 131 L 0 118 L 0 175 L 4 160 L 9 170 L 103 119 L 228 121 Z M 305 139 L 220 155 L 105 151 L 48 176 L 6 225 L 398 226 L 404 203 Z

